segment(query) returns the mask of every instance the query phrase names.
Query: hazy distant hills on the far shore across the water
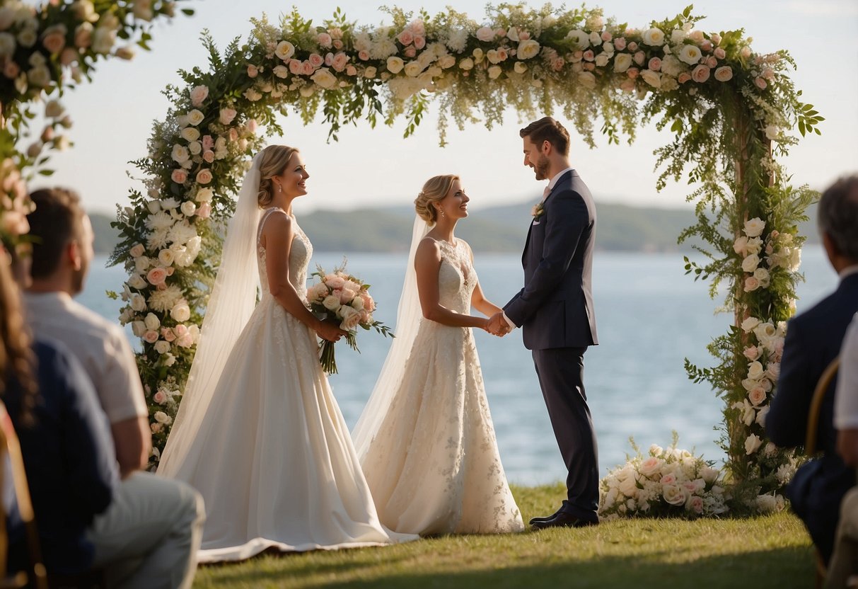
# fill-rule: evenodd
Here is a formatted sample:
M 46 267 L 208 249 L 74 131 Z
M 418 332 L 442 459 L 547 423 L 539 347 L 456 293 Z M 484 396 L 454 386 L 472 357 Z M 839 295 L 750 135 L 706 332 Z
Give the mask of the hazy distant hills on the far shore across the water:
M 478 252 L 521 252 L 530 222 L 531 203 L 473 209 L 460 222 L 456 234 Z M 677 245 L 676 238 L 691 226 L 690 209 L 658 209 L 627 204 L 597 203 L 596 248 L 619 252 L 689 251 L 691 244 Z M 800 232 L 818 243 L 816 208 L 808 209 L 810 222 Z M 118 241 L 111 228 L 113 217 L 90 215 L 95 231 L 95 251 L 110 253 Z M 301 228 L 317 252 L 403 252 L 411 239 L 414 213 L 408 207 L 317 210 L 301 216 Z

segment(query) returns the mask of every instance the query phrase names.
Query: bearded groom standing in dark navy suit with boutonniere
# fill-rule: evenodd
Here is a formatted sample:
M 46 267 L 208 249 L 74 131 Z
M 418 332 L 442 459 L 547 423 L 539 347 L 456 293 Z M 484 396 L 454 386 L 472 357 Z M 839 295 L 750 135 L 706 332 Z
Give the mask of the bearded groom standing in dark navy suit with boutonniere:
M 550 180 L 534 208 L 524 246 L 524 288 L 490 321 L 499 330 L 522 327 L 560 453 L 569 471 L 567 499 L 553 515 L 530 520 L 541 530 L 599 523 L 596 441 L 583 385 L 583 355 L 598 343 L 590 276 L 595 205 L 569 165 L 569 133 L 551 117 L 519 131 L 524 165 Z

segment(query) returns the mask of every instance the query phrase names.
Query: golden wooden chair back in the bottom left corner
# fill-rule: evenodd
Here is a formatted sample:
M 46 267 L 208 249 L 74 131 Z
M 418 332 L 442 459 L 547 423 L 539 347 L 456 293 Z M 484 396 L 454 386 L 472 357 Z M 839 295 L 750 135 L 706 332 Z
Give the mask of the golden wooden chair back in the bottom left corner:
M 47 589 L 47 573 L 42 562 L 42 550 L 39 545 L 39 530 L 33 517 L 33 501 L 30 500 L 30 489 L 27 487 L 27 473 L 24 471 L 24 459 L 21 456 L 21 444 L 12 427 L 12 420 L 6 411 L 6 405 L 0 401 L 0 489 L 3 489 L 3 459 L 9 460 L 12 471 L 12 483 L 15 486 L 15 500 L 18 513 L 24 523 L 27 537 L 27 550 L 30 556 L 30 568 L 15 576 L 7 576 L 6 557 L 9 550 L 9 537 L 6 531 L 6 508 L 0 501 L 0 517 L 3 518 L 3 529 L 0 531 L 0 587 L 32 586 L 36 589 Z

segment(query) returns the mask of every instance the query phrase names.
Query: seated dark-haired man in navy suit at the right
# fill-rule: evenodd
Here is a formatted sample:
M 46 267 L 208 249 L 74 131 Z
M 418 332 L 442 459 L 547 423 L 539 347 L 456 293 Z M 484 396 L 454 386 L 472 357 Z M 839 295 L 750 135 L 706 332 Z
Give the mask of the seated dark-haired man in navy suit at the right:
M 839 179 L 823 192 L 818 216 L 825 253 L 840 284 L 815 307 L 789 320 L 781 374 L 765 420 L 766 434 L 777 446 L 804 444 L 813 390 L 839 354 L 849 321 L 858 312 L 858 175 Z M 826 562 L 840 502 L 855 484 L 855 472 L 837 455 L 833 412 L 832 383 L 819 414 L 817 440 L 823 456 L 802 466 L 788 489 L 795 513 L 804 520 Z

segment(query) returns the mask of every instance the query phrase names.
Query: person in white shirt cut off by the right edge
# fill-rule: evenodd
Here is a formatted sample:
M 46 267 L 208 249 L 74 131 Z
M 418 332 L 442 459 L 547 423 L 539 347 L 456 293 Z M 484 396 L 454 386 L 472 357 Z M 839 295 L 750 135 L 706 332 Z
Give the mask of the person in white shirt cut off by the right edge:
M 851 468 L 858 467 L 858 315 L 840 349 L 840 370 L 834 396 L 834 427 L 837 428 L 837 452 Z M 858 585 L 858 488 L 852 488 L 840 505 L 840 523 L 834 553 L 825 577 L 825 586 Z M 850 580 L 851 577 L 851 580 Z

